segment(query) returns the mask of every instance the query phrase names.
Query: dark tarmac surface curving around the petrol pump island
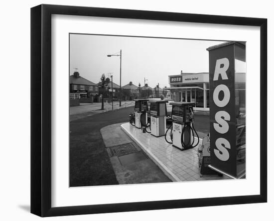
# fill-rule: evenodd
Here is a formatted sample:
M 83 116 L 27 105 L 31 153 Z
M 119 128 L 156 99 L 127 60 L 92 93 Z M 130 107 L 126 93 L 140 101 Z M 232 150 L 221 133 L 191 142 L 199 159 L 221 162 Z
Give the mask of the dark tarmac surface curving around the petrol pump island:
M 71 187 L 118 184 L 100 129 L 128 121 L 129 113 L 133 110 L 133 107 L 128 107 L 70 122 Z M 196 115 L 195 128 L 197 131 L 208 133 L 209 116 Z

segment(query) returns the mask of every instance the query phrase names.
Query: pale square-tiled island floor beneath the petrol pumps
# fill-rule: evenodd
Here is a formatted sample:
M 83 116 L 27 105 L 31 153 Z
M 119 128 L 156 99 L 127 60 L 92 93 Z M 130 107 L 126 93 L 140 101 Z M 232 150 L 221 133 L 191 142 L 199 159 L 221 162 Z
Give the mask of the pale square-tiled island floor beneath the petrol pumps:
M 227 176 L 219 177 L 218 175 L 203 175 L 200 177 L 197 156 L 198 146 L 180 151 L 172 147 L 172 144 L 168 144 L 164 136 L 154 137 L 148 133 L 142 133 L 141 129 L 137 129 L 130 123 L 124 123 L 121 127 L 163 171 L 171 176 L 171 179 L 173 178 L 173 181 L 230 179 Z M 202 139 L 199 143 L 201 142 Z

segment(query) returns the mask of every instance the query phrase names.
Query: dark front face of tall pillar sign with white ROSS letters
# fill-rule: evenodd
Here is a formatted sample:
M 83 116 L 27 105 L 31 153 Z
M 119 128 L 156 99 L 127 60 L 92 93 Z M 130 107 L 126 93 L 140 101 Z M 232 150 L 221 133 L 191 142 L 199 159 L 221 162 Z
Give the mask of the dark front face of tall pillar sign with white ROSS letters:
M 212 169 L 237 178 L 235 42 L 209 51 L 210 146 Z

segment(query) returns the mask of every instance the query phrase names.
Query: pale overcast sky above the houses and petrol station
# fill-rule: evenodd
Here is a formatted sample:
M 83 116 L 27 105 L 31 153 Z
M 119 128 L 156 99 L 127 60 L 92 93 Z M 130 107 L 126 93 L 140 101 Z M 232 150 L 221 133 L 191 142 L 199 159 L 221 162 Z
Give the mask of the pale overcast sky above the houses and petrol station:
M 144 37 L 70 34 L 70 75 L 78 68 L 80 76 L 98 83 L 103 73 L 113 74 L 120 85 L 120 54 L 122 49 L 122 86 L 132 81 L 152 88 L 167 86 L 168 75 L 180 71 L 208 72 L 206 48 L 223 41 L 162 39 Z

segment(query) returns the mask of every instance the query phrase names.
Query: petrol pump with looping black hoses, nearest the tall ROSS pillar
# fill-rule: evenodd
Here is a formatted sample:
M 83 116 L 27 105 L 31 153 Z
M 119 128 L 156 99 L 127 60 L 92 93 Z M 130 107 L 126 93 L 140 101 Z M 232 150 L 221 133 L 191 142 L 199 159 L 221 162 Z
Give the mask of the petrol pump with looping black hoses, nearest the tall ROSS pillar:
M 172 124 L 165 132 L 165 140 L 167 141 L 166 135 L 170 129 L 170 138 L 172 142 L 167 142 L 172 143 L 172 146 L 178 148 L 179 150 L 186 150 L 196 147 L 199 143 L 199 136 L 193 124 L 194 104 L 188 102 L 174 102 L 170 104 L 172 105 Z M 194 133 L 198 138 L 197 143 L 195 144 Z

